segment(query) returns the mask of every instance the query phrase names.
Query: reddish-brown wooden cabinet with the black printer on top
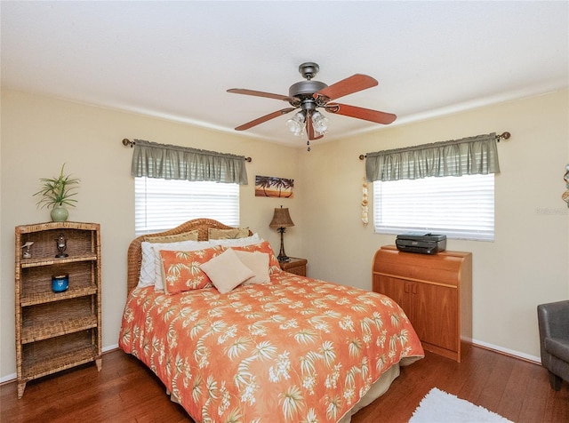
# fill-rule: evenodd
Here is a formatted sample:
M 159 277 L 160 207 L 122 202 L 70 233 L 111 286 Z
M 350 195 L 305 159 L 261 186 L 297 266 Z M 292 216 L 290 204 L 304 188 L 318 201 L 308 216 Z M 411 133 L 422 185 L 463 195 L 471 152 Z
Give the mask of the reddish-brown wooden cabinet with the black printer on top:
M 472 254 L 414 254 L 381 247 L 373 259 L 373 291 L 404 309 L 423 348 L 461 361 L 472 341 Z

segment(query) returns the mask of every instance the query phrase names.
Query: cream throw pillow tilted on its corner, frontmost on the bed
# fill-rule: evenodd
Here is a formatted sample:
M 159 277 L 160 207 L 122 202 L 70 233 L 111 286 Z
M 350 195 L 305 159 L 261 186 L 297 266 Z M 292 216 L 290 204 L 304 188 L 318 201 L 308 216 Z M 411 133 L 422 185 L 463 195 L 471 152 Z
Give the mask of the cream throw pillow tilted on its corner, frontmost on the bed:
M 222 294 L 233 290 L 237 285 L 255 275 L 237 257 L 236 251 L 230 248 L 223 251 L 219 256 L 206 261 L 200 265 L 200 268 L 209 276 L 213 285 Z

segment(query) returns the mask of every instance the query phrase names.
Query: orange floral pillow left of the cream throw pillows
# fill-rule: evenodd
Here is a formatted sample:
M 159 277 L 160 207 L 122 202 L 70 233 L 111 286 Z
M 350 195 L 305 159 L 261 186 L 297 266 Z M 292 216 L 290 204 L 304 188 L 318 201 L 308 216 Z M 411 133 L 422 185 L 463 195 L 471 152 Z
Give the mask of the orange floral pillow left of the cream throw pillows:
M 165 293 L 172 295 L 211 287 L 212 280 L 200 268 L 200 265 L 223 251 L 225 248 L 220 245 L 197 251 L 161 250 Z

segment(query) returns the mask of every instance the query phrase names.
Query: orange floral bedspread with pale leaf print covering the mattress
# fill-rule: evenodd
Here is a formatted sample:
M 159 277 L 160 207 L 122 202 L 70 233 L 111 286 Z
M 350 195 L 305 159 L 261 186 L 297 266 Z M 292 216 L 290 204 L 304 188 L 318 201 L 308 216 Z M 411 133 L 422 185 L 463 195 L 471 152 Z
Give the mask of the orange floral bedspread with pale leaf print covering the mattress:
M 388 297 L 270 277 L 227 294 L 136 289 L 119 345 L 204 422 L 336 422 L 392 364 L 424 355 Z

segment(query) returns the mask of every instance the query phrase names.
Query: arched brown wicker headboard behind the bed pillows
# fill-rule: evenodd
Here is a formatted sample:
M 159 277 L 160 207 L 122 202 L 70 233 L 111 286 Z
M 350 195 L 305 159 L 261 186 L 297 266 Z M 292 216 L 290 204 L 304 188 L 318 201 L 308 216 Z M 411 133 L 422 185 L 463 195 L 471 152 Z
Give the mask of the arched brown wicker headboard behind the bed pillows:
M 132 243 L 128 247 L 128 269 L 126 274 L 126 290 L 130 293 L 136 285 L 139 283 L 140 277 L 140 265 L 142 264 L 142 247 L 141 243 L 144 241 L 144 237 L 148 235 L 178 235 L 184 232 L 189 232 L 192 230 L 197 230 L 198 241 L 207 241 L 208 239 L 208 229 L 214 227 L 217 229 L 231 229 L 223 223 L 213 220 L 213 219 L 193 219 L 188 220 L 186 223 L 182 223 L 179 227 L 174 227 L 173 229 L 159 232 L 156 234 L 140 235 L 132 240 Z M 249 231 L 249 235 L 252 232 Z

